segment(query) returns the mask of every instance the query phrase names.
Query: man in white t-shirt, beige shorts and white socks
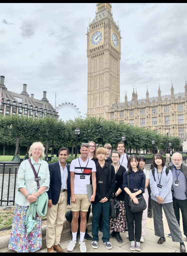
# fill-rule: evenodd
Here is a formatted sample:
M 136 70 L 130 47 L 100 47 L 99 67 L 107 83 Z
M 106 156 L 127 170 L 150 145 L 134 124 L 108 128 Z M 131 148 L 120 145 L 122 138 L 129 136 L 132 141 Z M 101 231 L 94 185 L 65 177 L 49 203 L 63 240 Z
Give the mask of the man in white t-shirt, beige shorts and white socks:
M 78 230 L 78 216 L 80 211 L 80 252 L 86 252 L 84 234 L 86 229 L 86 215 L 89 205 L 95 199 L 96 193 L 96 168 L 94 161 L 88 158 L 89 144 L 83 143 L 80 147 L 81 155 L 72 160 L 70 164 L 70 190 L 71 190 L 71 210 L 72 210 L 72 239 L 67 246 L 68 251 L 72 251 L 76 245 L 76 234 Z M 88 200 L 87 184 L 90 184 L 90 174 L 92 180 L 93 194 Z

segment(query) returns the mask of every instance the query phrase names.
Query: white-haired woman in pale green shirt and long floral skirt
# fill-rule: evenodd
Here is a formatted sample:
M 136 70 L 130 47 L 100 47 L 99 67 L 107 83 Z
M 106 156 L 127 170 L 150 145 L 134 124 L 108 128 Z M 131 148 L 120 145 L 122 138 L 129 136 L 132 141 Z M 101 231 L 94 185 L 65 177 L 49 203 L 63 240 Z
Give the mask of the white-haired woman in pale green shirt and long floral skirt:
M 24 222 L 29 203 L 48 190 L 50 181 L 48 163 L 41 160 L 44 157 L 43 144 L 34 142 L 28 156 L 29 159 L 21 162 L 17 172 L 15 210 L 8 244 L 8 249 L 17 252 L 34 252 L 41 248 L 41 217 L 36 213 L 36 225 L 29 233 Z

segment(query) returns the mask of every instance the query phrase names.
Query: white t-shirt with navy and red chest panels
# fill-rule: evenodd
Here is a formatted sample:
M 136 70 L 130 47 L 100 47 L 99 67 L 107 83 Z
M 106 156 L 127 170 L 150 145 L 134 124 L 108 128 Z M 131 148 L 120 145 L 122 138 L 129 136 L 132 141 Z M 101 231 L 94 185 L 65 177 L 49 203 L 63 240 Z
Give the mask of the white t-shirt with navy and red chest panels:
M 69 171 L 74 172 L 74 194 L 87 194 L 86 185 L 90 184 L 90 174 L 92 171 L 96 171 L 94 161 L 87 157 L 84 162 L 79 156 L 71 161 Z M 82 176 L 85 178 L 81 178 Z

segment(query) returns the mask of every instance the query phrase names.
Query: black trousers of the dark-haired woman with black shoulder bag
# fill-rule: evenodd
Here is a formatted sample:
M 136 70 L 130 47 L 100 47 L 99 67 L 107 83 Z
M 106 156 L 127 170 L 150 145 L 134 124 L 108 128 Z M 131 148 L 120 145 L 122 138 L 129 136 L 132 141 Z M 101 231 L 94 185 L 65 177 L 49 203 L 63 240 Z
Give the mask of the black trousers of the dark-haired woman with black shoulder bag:
M 128 240 L 139 242 L 141 238 L 141 219 L 143 211 L 140 212 L 131 212 L 130 207 L 128 206 L 128 194 L 124 194 L 124 206 L 126 210 L 126 220 L 128 226 Z M 135 225 L 135 233 L 134 233 Z M 135 239 L 134 239 L 135 235 Z

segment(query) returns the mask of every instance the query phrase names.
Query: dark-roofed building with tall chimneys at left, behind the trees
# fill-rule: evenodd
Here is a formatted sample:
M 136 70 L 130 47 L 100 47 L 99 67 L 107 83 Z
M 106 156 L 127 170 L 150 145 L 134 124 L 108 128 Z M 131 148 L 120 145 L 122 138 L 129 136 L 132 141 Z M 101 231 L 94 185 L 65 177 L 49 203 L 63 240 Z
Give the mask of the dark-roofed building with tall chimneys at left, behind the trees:
M 23 90 L 20 94 L 9 91 L 4 85 L 3 75 L 0 76 L 0 87 L 2 88 L 0 114 L 3 116 L 17 113 L 35 118 L 58 117 L 57 112 L 46 98 L 46 91 L 43 91 L 42 99 L 34 98 L 34 94 L 29 97 L 26 92 L 26 84 L 23 84 Z

